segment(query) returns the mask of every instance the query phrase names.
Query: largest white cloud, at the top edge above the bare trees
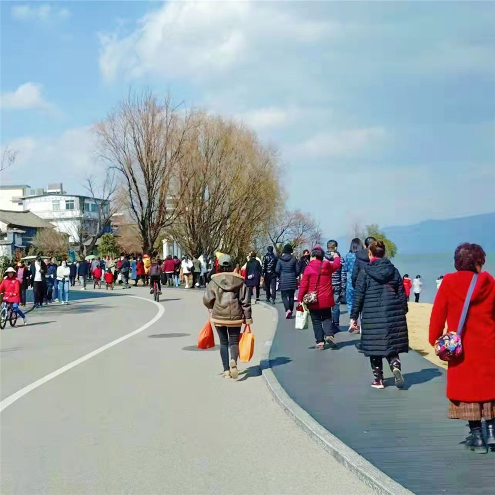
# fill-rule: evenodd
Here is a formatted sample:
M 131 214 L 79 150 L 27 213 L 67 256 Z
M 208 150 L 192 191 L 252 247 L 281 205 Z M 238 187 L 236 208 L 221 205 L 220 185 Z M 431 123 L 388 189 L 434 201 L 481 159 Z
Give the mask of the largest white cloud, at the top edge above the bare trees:
M 305 19 L 288 3 L 166 2 L 127 36 L 100 35 L 99 66 L 108 81 L 148 73 L 204 78 L 270 55 L 276 61 L 274 49 L 304 47 L 338 29 Z

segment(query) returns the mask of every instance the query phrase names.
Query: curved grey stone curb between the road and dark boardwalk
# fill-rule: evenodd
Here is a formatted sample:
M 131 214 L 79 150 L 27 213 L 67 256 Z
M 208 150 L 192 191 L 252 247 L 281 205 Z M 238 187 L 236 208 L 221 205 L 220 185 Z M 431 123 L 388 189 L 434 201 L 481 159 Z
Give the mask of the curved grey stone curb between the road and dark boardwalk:
M 261 305 L 275 313 L 276 321 L 278 322 L 278 311 L 264 302 L 261 302 Z M 269 342 L 265 344 L 263 349 L 262 360 L 260 361 L 261 374 L 265 379 L 268 390 L 282 409 L 296 422 L 297 426 L 375 492 L 381 495 L 414 495 L 413 492 L 394 481 L 362 455 L 359 455 L 355 450 L 323 428 L 320 423 L 287 394 L 270 367 L 271 347 L 272 342 Z

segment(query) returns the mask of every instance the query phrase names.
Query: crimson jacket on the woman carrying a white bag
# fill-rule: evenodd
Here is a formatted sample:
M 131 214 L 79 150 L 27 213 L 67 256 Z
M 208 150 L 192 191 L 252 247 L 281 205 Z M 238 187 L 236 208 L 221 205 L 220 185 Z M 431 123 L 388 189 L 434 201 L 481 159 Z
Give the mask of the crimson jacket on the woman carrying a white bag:
M 313 261 L 310 261 L 309 265 L 304 269 L 297 296 L 299 302 L 302 302 L 302 298 L 305 294 L 315 290 L 321 263 L 322 261 L 319 259 L 313 259 Z M 316 292 L 318 302 L 316 304 L 311 304 L 309 309 L 326 309 L 335 306 L 334 293 L 332 291 L 332 273 L 340 267 L 340 258 L 335 258 L 334 261 L 323 260 L 320 283 Z

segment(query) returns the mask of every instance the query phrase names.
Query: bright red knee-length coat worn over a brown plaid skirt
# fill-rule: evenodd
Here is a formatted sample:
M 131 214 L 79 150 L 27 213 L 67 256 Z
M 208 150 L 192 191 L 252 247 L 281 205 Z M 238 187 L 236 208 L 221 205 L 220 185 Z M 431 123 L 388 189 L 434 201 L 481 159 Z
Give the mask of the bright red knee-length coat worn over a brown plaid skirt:
M 430 317 L 430 344 L 455 332 L 473 272 L 447 274 L 435 297 Z M 495 280 L 481 272 L 462 334 L 462 357 L 448 363 L 447 397 L 462 402 L 495 400 Z

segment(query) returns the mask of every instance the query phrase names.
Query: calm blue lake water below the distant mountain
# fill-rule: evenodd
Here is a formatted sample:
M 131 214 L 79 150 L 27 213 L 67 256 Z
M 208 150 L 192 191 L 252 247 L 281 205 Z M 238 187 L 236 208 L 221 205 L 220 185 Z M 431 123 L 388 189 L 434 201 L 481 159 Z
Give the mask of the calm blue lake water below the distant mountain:
M 392 263 L 397 267 L 400 275 L 408 273 L 411 280 L 416 275 L 421 275 L 423 290 L 419 298 L 420 302 L 433 302 L 437 293 L 436 280 L 439 275 L 455 272 L 453 253 L 444 254 L 397 254 L 392 258 Z M 495 252 L 487 253 L 487 261 L 483 271 L 495 274 Z M 410 300 L 414 300 L 411 291 Z

